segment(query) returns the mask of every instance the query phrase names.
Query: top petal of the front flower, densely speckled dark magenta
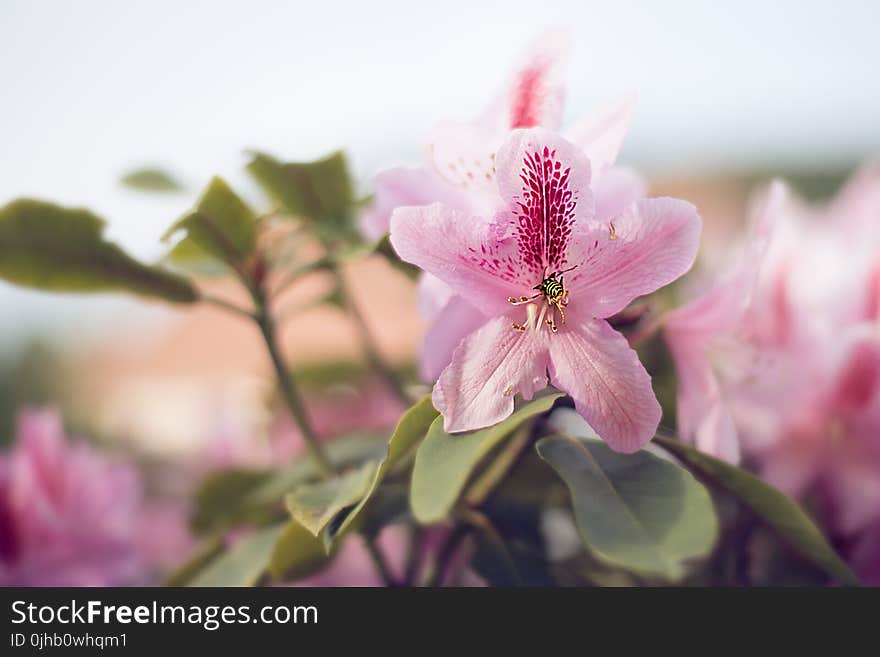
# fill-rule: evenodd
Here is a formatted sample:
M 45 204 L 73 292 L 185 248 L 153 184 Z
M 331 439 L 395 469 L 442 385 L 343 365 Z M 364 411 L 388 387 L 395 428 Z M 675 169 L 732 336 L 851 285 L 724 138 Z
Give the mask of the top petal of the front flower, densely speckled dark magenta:
M 498 189 L 510 202 L 518 268 L 537 285 L 565 266 L 573 232 L 593 218 L 590 163 L 573 144 L 535 128 L 511 133 L 497 166 Z

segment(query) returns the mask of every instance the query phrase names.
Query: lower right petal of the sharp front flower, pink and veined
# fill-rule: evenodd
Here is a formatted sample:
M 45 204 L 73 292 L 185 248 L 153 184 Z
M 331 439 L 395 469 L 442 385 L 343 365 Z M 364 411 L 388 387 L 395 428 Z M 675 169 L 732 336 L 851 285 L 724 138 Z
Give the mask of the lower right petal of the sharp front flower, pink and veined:
M 551 383 L 609 447 L 636 452 L 654 437 L 660 404 L 626 338 L 603 320 L 572 317 L 547 344 Z

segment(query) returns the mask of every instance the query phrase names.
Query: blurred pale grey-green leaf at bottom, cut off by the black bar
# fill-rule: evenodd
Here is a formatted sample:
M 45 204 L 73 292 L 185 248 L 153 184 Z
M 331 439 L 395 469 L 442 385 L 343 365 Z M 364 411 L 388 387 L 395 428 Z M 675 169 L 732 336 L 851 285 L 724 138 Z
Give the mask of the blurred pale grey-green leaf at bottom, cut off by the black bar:
M 255 586 L 272 558 L 288 523 L 257 529 L 208 564 L 192 586 Z

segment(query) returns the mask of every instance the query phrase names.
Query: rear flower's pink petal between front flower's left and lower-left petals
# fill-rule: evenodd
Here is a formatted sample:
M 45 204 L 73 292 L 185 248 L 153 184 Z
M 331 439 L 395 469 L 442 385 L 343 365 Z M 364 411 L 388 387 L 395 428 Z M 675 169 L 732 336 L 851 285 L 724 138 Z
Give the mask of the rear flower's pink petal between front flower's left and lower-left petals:
M 456 347 L 486 323 L 486 316 L 459 296 L 437 313 L 422 343 L 419 373 L 424 381 L 436 381 L 452 362 Z

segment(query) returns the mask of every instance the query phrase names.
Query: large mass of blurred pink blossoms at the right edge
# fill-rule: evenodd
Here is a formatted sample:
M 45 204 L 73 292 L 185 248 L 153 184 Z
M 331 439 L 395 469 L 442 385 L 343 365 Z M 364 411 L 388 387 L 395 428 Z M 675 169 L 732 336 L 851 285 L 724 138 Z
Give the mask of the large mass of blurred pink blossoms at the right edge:
M 853 536 L 880 521 L 880 168 L 830 203 L 771 188 L 741 262 L 673 313 L 679 431 L 821 498 Z

